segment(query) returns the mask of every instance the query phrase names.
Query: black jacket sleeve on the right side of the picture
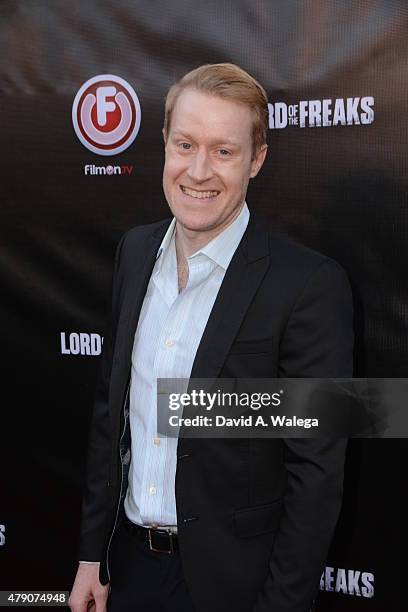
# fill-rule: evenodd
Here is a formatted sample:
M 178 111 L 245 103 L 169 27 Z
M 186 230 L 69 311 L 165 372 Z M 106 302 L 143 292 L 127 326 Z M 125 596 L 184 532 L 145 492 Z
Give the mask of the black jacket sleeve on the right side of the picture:
M 353 309 L 342 268 L 324 259 L 310 274 L 281 339 L 279 375 L 352 376 Z M 287 488 L 253 612 L 308 612 L 341 507 L 346 439 L 284 439 Z

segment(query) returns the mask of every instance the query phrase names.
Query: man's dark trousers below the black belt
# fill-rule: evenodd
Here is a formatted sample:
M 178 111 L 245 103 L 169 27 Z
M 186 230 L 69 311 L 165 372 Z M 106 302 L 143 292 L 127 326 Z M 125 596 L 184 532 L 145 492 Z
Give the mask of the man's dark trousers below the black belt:
M 153 552 L 124 523 L 109 551 L 108 612 L 194 612 L 180 552 Z

